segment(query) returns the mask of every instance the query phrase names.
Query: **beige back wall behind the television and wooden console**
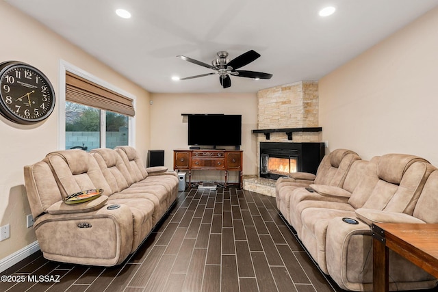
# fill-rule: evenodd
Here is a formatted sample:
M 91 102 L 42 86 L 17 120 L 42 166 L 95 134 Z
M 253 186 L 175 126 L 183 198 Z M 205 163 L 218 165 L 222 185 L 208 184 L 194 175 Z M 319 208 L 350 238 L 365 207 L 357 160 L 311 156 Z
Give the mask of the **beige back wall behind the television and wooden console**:
M 189 147 L 187 118 L 181 114 L 241 114 L 243 173 L 257 173 L 257 137 L 251 132 L 257 129 L 257 94 L 151 94 L 151 100 L 151 149 L 164 150 L 169 169 L 173 150 Z

